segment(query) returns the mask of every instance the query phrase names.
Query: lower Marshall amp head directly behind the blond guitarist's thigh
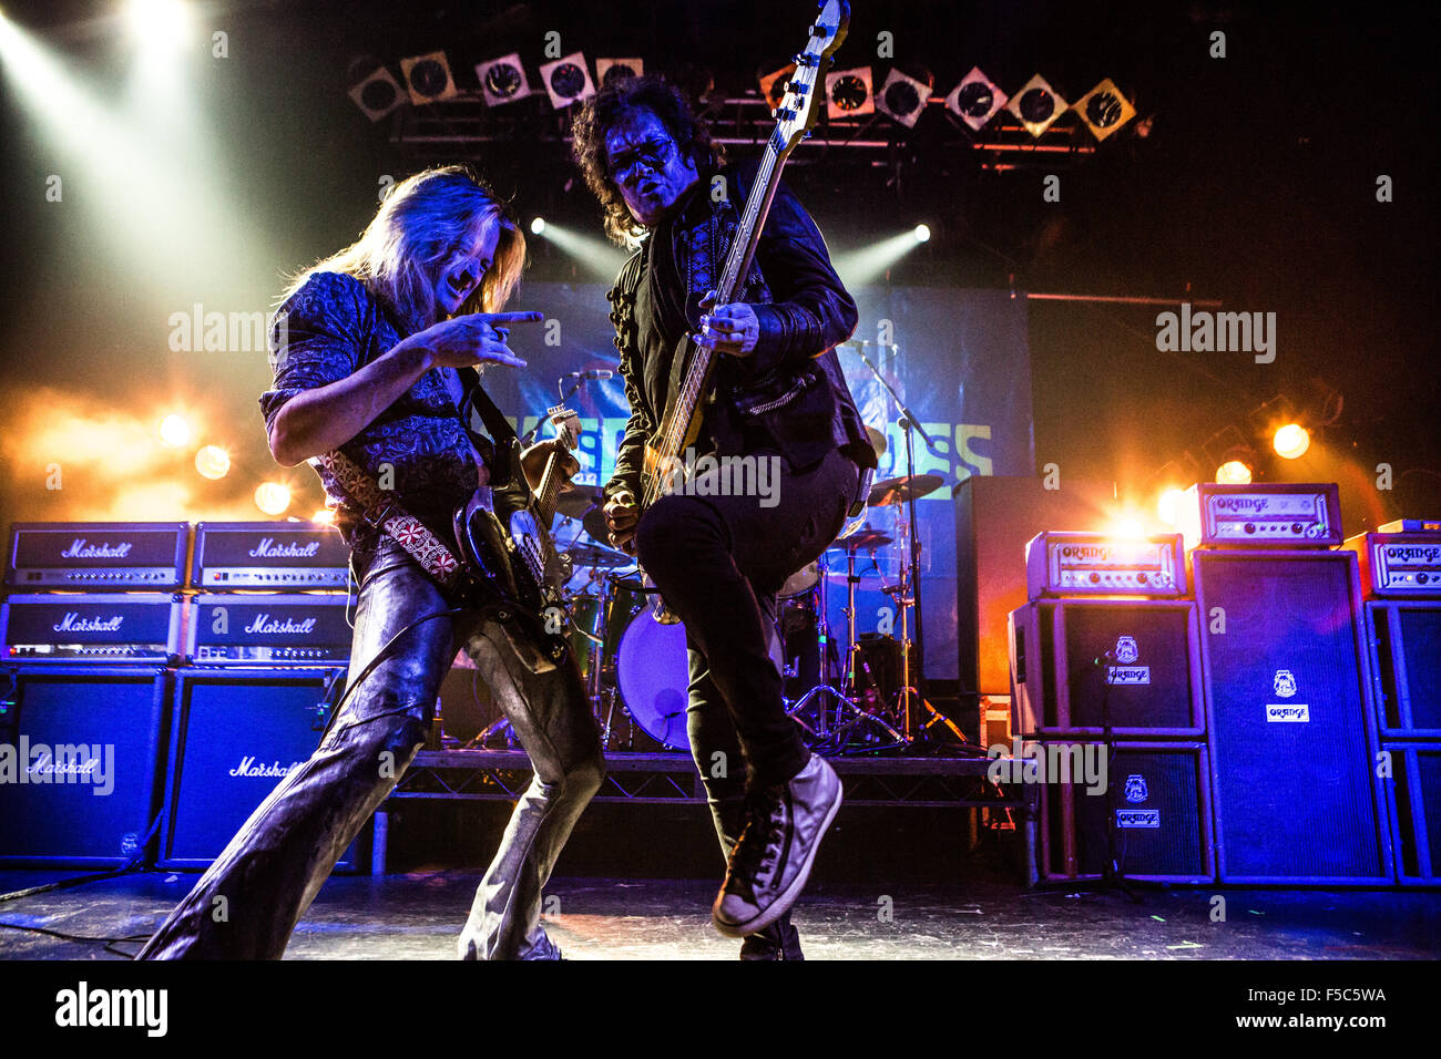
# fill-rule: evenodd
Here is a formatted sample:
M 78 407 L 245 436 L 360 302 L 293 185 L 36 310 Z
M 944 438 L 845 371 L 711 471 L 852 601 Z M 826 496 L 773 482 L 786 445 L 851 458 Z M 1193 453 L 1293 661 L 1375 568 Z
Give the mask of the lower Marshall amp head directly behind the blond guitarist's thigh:
M 316 666 L 350 658 L 346 595 L 197 595 L 186 656 L 196 666 Z

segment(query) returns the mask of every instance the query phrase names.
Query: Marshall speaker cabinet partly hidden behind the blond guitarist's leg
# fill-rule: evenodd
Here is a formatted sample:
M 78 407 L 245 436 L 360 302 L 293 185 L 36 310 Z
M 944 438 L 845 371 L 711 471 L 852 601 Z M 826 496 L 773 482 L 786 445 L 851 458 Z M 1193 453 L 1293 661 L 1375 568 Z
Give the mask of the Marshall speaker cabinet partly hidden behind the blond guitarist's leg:
M 344 669 L 180 670 L 157 863 L 209 866 L 314 752 L 343 684 Z M 356 863 L 352 844 L 337 870 Z

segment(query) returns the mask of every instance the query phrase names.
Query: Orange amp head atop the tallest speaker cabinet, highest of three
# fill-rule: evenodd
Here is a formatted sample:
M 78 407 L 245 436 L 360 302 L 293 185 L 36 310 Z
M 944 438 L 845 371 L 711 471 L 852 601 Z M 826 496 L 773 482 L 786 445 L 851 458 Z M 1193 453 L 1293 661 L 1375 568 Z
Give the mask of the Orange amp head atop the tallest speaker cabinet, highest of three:
M 1336 483 L 1221 486 L 1203 481 L 1180 503 L 1186 548 L 1336 548 L 1342 503 Z

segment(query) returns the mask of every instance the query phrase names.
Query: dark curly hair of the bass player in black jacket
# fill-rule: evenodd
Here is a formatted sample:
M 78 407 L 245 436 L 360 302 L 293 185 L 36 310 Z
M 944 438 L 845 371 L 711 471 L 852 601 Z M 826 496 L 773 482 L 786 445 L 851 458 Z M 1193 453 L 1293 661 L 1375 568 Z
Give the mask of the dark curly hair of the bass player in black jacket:
M 585 183 L 601 200 L 605 212 L 605 233 L 612 242 L 633 245 L 646 231 L 631 216 L 621 189 L 611 180 L 605 164 L 605 134 L 623 115 L 647 110 L 656 115 L 683 154 L 690 157 L 696 171 L 708 173 L 725 163 L 720 144 L 710 141 L 710 130 L 690 107 L 690 101 L 673 84 L 657 73 L 620 78 L 607 82 L 575 111 L 571 133 L 572 151 L 585 176 Z

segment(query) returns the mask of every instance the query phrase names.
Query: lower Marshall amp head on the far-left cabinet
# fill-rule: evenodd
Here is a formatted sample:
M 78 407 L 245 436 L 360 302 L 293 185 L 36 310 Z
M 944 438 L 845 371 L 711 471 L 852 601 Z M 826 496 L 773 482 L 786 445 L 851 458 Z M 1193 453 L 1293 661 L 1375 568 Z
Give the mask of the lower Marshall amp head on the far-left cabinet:
M 180 653 L 184 602 L 164 592 L 13 595 L 0 607 L 6 661 L 144 661 Z

